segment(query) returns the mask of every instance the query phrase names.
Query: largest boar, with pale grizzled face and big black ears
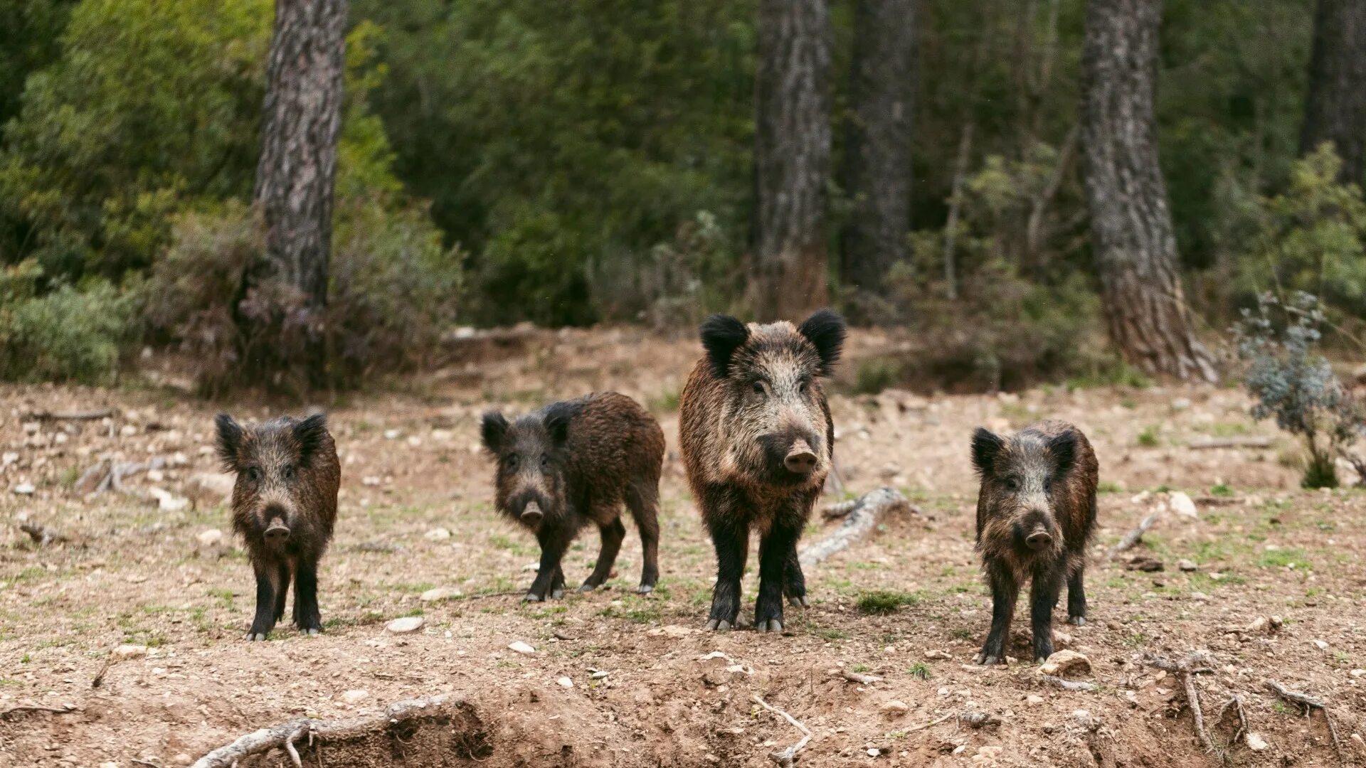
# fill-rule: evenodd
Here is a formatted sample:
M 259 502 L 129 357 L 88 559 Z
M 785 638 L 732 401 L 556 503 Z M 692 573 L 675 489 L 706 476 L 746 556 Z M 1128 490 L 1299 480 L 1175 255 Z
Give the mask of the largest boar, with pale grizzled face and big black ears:
M 796 541 L 833 459 L 835 425 L 821 379 L 839 359 L 844 320 L 828 309 L 800 327 L 744 325 L 716 314 L 702 323 L 701 335 L 706 357 L 683 388 L 679 439 L 716 547 L 706 626 L 735 626 L 750 529 L 757 529 L 754 626 L 781 631 L 783 596 L 806 605 Z

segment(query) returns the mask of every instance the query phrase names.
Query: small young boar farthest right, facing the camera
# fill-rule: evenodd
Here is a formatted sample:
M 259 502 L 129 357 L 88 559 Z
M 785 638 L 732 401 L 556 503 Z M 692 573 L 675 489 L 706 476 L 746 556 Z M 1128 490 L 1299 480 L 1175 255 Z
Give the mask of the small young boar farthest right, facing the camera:
M 982 478 L 977 551 L 992 588 L 992 630 L 977 661 L 1005 660 L 1015 599 L 1026 578 L 1034 660 L 1041 661 L 1053 653 L 1053 607 L 1064 581 L 1067 623 L 1086 623 L 1082 571 L 1096 527 L 1096 452 L 1071 424 L 1041 421 L 1009 439 L 978 428 L 973 463 Z

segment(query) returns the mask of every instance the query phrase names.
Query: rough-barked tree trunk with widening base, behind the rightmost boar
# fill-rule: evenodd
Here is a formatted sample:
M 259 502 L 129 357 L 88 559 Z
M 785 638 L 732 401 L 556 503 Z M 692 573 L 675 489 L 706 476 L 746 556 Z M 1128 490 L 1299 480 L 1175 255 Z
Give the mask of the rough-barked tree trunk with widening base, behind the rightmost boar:
M 1090 0 L 1082 143 L 1091 247 L 1109 335 L 1149 373 L 1217 380 L 1182 297 L 1176 236 L 1157 163 L 1153 100 L 1161 0 Z

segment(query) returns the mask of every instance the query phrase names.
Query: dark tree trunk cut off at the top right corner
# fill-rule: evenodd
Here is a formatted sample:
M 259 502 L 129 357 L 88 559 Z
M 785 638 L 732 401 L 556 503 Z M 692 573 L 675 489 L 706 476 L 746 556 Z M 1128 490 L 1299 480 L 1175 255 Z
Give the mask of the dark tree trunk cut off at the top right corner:
M 1309 98 L 1299 150 L 1333 142 L 1343 160 L 1340 179 L 1362 182 L 1366 161 L 1366 1 L 1318 0 Z

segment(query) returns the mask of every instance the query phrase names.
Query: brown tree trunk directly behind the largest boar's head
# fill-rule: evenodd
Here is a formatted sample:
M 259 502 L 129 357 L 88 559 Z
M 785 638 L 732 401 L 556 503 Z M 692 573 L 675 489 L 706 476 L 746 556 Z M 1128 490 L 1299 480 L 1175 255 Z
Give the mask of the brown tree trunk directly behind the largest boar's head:
M 749 301 L 759 320 L 824 306 L 831 160 L 831 19 L 825 0 L 759 0 Z

